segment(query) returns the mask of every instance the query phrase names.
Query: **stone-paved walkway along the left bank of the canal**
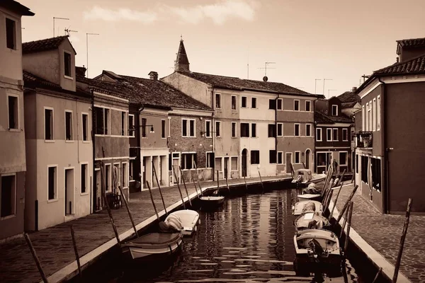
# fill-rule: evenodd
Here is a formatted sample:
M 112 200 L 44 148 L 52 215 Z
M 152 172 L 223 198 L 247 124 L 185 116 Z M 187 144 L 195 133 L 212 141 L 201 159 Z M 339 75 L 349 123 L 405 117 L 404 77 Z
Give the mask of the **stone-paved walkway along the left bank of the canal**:
M 259 178 L 248 178 L 246 182 L 258 183 L 259 180 Z M 282 178 L 277 178 L 276 176 L 263 177 L 262 180 L 267 182 L 282 180 Z M 244 180 L 232 179 L 228 182 L 229 185 L 243 184 Z M 220 181 L 220 187 L 225 186 L 225 184 L 225 180 Z M 211 187 L 217 185 L 217 182 L 201 182 L 201 185 L 203 188 Z M 187 187 L 189 195 L 195 192 L 193 184 L 187 184 Z M 181 190 L 183 191 L 183 197 L 185 197 L 186 191 L 183 185 L 181 185 Z M 177 186 L 164 187 L 162 188 L 162 193 L 166 207 L 181 201 Z M 164 209 L 159 190 L 152 190 L 152 194 L 159 212 Z M 129 207 L 136 225 L 154 215 L 154 208 L 148 191 L 130 195 Z M 120 209 L 113 209 L 113 218 L 119 234 L 132 228 L 124 204 Z M 75 260 L 69 229 L 71 224 L 74 226 L 80 258 L 115 237 L 106 209 L 100 213 L 30 233 L 35 252 L 47 277 Z M 0 244 L 0 282 L 40 282 L 40 280 L 41 277 L 37 266 L 23 237 Z

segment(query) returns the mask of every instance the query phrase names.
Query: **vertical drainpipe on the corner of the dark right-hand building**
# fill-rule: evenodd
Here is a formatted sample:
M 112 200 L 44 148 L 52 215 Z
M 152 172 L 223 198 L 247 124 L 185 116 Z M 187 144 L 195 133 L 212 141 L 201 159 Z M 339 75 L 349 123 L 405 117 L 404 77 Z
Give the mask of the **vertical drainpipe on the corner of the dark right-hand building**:
M 378 81 L 380 83 L 382 83 L 382 98 L 380 99 L 380 103 L 385 105 L 385 101 L 386 99 L 386 92 L 387 92 L 387 85 L 385 84 L 384 81 L 381 81 L 381 78 L 378 78 Z M 380 112 L 382 113 L 382 109 L 385 110 L 385 107 L 380 107 Z M 383 142 L 382 142 L 382 147 L 384 149 L 384 159 L 385 159 L 385 170 L 384 170 L 384 180 L 385 180 L 385 185 L 382 187 L 385 187 L 385 197 L 384 197 L 384 207 L 382 207 L 382 211 L 385 214 L 389 213 L 389 202 L 390 202 L 390 161 L 388 161 L 388 152 L 390 151 L 389 148 L 387 148 L 387 123 L 385 122 L 385 115 L 386 112 L 384 111 L 384 119 L 382 119 L 382 115 L 380 117 L 380 119 L 383 121 L 381 123 L 381 131 L 384 132 L 383 134 Z M 382 168 L 382 166 L 381 166 Z M 382 169 L 381 169 L 382 170 Z M 381 189 L 382 190 L 382 189 Z M 384 193 L 384 190 L 382 190 L 382 194 Z

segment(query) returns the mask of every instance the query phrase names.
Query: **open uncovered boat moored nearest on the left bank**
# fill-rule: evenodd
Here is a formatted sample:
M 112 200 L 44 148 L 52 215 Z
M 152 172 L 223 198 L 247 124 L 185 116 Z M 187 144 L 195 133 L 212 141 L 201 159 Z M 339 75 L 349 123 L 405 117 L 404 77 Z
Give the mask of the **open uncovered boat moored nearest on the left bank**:
M 132 260 L 166 260 L 181 249 L 181 233 L 149 233 L 123 243 L 123 254 Z

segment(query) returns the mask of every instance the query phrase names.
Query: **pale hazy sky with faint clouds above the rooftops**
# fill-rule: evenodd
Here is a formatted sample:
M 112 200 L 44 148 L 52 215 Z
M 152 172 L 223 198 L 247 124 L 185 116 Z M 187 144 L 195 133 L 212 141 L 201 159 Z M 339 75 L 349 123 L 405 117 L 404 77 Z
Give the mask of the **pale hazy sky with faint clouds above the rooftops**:
M 171 74 L 180 36 L 191 71 L 269 81 L 339 95 L 361 75 L 393 64 L 395 40 L 425 37 L 423 0 L 18 0 L 23 42 L 71 33 L 77 65 L 149 77 Z M 249 68 L 247 64 L 249 63 Z M 315 87 L 315 79 L 317 81 Z

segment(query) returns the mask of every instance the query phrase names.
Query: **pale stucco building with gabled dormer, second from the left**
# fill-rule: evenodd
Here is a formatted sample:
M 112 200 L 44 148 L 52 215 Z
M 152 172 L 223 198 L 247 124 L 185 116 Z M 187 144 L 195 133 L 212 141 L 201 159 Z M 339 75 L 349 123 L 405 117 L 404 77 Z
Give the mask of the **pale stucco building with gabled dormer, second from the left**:
M 75 55 L 67 36 L 23 43 L 28 230 L 93 210 L 91 95 L 76 86 Z

